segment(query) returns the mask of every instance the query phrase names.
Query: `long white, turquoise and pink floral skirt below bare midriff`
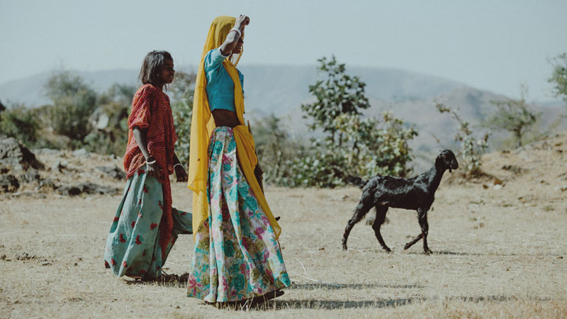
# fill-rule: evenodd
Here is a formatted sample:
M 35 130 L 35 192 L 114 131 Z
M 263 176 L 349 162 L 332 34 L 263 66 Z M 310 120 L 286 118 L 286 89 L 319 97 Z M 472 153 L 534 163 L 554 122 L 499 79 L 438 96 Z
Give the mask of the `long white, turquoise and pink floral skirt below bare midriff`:
M 232 128 L 213 130 L 208 219 L 199 225 L 187 296 L 241 301 L 290 286 L 274 230 L 240 170 Z

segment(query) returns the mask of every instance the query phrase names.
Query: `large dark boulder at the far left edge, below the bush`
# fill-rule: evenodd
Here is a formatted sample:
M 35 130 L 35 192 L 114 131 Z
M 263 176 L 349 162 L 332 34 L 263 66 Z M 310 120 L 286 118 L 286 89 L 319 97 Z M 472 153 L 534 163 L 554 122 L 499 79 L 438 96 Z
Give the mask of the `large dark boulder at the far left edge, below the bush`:
M 35 158 L 33 152 L 15 138 L 0 140 L 0 167 L 9 167 L 14 171 L 44 169 L 43 163 Z

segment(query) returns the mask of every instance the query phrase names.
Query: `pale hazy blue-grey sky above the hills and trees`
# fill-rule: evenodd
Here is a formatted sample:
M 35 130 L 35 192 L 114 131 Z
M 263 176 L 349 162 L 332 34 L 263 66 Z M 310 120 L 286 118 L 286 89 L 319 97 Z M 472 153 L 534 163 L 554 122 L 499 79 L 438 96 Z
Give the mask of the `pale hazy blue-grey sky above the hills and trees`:
M 38 72 L 137 69 L 150 50 L 196 65 L 215 16 L 247 14 L 242 64 L 406 69 L 553 100 L 549 57 L 567 52 L 567 1 L 0 0 L 0 84 Z

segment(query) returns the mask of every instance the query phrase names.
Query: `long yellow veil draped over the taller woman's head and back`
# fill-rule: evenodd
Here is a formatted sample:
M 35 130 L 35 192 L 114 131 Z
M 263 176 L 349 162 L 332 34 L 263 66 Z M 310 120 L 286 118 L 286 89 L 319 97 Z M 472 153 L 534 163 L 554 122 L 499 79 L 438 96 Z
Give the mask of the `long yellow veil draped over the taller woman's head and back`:
M 189 149 L 189 184 L 188 187 L 193 191 L 193 239 L 197 233 L 199 225 L 208 218 L 207 202 L 207 175 L 208 175 L 208 141 L 210 133 L 215 128 L 215 121 L 211 116 L 206 92 L 207 78 L 205 74 L 205 57 L 210 50 L 220 47 L 225 41 L 230 29 L 235 25 L 236 18 L 231 16 L 218 16 L 210 24 L 207 40 L 201 54 L 201 63 L 198 67 L 195 93 L 193 96 L 193 117 L 191 118 L 191 144 Z M 242 54 L 240 55 L 242 56 Z M 240 60 L 240 57 L 239 57 Z M 238 62 L 237 62 L 238 63 Z M 281 228 L 272 215 L 264 193 L 254 175 L 254 167 L 258 163 L 256 156 L 254 138 L 244 122 L 244 96 L 242 96 L 242 86 L 238 77 L 235 65 L 227 58 L 223 61 L 223 67 L 230 75 L 235 84 L 235 107 L 240 125 L 233 128 L 236 153 L 242 174 L 254 195 L 259 206 L 262 208 L 274 229 L 276 239 L 281 233 Z

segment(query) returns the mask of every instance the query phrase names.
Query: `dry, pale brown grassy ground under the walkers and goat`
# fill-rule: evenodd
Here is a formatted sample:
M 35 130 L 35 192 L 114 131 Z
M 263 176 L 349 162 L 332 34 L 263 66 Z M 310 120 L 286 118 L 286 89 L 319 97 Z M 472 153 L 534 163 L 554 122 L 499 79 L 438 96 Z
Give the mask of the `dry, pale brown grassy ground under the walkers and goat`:
M 486 155 L 483 169 L 504 181 L 502 189 L 492 178 L 463 182 L 446 173 L 429 217 L 430 256 L 421 242 L 403 250 L 420 231 L 415 212 L 388 212 L 382 234 L 393 253 L 362 223 L 343 251 L 359 189 L 269 187 L 293 285 L 254 309 L 218 310 L 186 298 L 183 280 L 112 276 L 102 254 L 120 196 L 6 196 L 0 317 L 567 318 L 566 153 L 563 134 Z M 174 205 L 189 209 L 184 185 L 174 188 Z M 191 236 L 180 237 L 166 271 L 186 274 L 192 246 Z

